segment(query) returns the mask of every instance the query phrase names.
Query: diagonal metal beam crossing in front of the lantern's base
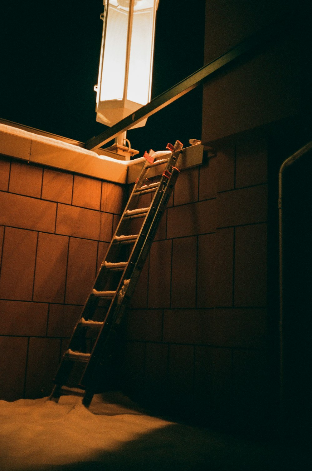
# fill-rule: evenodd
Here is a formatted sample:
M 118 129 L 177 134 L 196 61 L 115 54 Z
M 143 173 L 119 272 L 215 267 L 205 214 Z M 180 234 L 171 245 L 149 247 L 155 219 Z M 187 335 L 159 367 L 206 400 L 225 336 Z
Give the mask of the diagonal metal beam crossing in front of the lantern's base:
M 158 97 L 152 99 L 150 103 L 139 108 L 135 113 L 130 114 L 111 128 L 105 130 L 98 136 L 89 139 L 85 147 L 89 150 L 97 149 L 103 146 L 120 133 L 130 129 L 134 124 L 152 116 L 165 106 L 174 102 L 192 89 L 198 87 L 204 82 L 213 79 L 219 73 L 224 73 L 228 68 L 237 64 L 240 60 L 246 60 L 255 55 L 259 49 L 263 49 L 272 43 L 272 40 L 279 37 L 287 28 L 285 24 L 274 23 L 250 36 L 247 40 L 230 49 L 228 52 L 204 65 L 198 71 L 192 73 L 189 77 L 179 82 L 174 87 L 168 89 Z

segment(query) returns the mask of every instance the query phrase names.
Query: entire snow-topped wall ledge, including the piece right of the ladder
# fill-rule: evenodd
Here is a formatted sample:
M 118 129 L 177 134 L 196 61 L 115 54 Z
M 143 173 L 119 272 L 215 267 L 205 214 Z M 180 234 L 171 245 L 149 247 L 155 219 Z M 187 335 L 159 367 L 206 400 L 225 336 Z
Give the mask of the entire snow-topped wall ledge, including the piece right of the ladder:
M 0 154 L 114 183 L 134 183 L 145 162 L 144 157 L 122 161 L 98 155 L 80 147 L 81 143 L 77 141 L 72 141 L 75 144 L 71 144 L 64 142 L 65 138 L 60 136 L 53 138 L 44 136 L 22 129 L 18 124 L 16 127 L 14 124 L 16 123 L 8 125 L 0 120 Z M 201 165 L 203 149 L 204 146 L 201 144 L 184 147 L 177 163 L 178 169 L 185 170 Z M 160 157 L 166 154 L 168 151 L 158 151 L 153 156 Z M 154 175 L 158 175 L 156 170 Z M 150 177 L 152 176 L 151 172 Z

